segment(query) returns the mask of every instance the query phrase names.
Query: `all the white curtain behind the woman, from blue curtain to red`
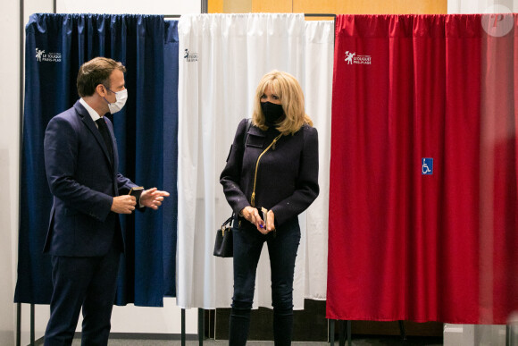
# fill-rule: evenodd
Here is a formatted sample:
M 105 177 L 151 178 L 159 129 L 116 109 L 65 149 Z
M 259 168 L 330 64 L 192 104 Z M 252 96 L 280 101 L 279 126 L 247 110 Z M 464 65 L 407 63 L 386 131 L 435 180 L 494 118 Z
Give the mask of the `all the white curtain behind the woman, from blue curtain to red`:
M 231 212 L 218 178 L 238 122 L 252 114 L 259 80 L 273 69 L 296 76 L 321 133 L 323 197 L 299 217 L 294 305 L 303 308 L 305 297 L 325 299 L 332 22 L 306 24 L 302 14 L 187 15 L 180 18 L 179 36 L 179 306 L 230 307 L 232 262 L 212 255 L 215 228 Z M 271 304 L 264 247 L 255 307 Z

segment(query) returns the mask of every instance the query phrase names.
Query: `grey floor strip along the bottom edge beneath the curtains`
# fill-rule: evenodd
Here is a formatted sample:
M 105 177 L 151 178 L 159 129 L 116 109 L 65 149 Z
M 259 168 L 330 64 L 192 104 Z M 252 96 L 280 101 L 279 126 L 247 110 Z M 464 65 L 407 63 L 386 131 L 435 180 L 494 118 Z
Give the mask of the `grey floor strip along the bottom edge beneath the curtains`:
M 80 345 L 79 339 L 74 339 L 72 346 Z M 180 346 L 180 340 L 137 340 L 137 339 L 110 339 L 108 342 L 109 346 Z M 212 339 L 206 339 L 204 341 L 205 346 L 226 346 L 229 342 L 227 340 L 214 341 Z M 198 341 L 186 342 L 188 346 L 199 345 Z M 271 346 L 273 342 L 247 342 L 250 346 Z M 326 346 L 330 345 L 328 342 L 293 342 L 294 346 Z M 338 340 L 335 342 L 338 346 Z M 346 343 L 347 345 L 347 343 Z M 442 340 L 440 338 L 423 338 L 423 337 L 412 337 L 409 336 L 404 342 L 396 336 L 373 336 L 373 337 L 354 337 L 354 346 L 440 346 Z

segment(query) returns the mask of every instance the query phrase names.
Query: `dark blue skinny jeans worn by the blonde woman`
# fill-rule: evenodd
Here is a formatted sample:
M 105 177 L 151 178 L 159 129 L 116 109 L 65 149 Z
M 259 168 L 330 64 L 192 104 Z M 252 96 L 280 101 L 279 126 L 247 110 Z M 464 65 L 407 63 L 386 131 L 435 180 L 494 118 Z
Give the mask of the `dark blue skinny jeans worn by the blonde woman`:
M 293 274 L 300 227 L 295 217 L 266 235 L 253 224 L 238 218 L 232 229 L 234 239 L 234 296 L 230 313 L 231 346 L 244 345 L 254 300 L 255 273 L 263 249 L 268 245 L 272 271 L 273 337 L 275 345 L 289 345 L 293 330 Z

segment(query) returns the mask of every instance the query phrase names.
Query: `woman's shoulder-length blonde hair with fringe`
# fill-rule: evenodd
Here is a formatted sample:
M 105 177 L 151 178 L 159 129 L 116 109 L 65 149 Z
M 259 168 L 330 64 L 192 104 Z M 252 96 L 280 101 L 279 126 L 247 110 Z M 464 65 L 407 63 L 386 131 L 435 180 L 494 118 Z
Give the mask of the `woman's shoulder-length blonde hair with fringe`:
M 276 70 L 266 73 L 255 91 L 254 114 L 252 114 L 252 123 L 255 126 L 263 131 L 268 129 L 261 109 L 261 97 L 266 88 L 270 88 L 270 91 L 279 97 L 284 114 L 286 114 L 284 120 L 277 127 L 280 133 L 294 134 L 305 123 L 313 126 L 313 121 L 305 114 L 304 94 L 297 79 L 288 72 Z

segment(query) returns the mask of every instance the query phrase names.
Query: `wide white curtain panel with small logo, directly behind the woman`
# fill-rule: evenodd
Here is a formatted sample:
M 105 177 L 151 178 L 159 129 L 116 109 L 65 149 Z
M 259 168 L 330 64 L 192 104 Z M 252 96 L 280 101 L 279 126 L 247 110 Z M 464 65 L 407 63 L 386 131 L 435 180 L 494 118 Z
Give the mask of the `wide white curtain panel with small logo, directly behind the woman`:
M 252 114 L 255 88 L 273 69 L 305 85 L 303 14 L 193 14 L 179 21 L 178 277 L 181 308 L 228 308 L 232 260 L 213 257 L 216 227 L 231 209 L 219 183 L 238 122 Z M 305 237 L 301 249 L 305 249 Z M 304 302 L 305 252 L 294 298 Z M 267 248 L 255 306 L 271 306 Z

